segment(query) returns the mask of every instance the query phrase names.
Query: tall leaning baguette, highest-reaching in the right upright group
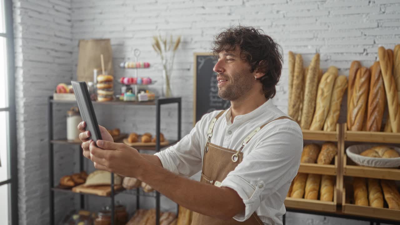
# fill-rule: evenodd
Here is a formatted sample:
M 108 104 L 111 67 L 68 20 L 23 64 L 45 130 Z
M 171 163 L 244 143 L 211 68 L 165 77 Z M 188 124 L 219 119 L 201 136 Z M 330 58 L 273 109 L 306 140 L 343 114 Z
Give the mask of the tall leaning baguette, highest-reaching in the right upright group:
M 383 83 L 388 100 L 390 125 L 393 133 L 400 132 L 400 110 L 399 99 L 397 95 L 396 82 L 392 76 L 393 58 L 390 51 L 384 47 L 378 48 L 380 69 L 382 70 Z

